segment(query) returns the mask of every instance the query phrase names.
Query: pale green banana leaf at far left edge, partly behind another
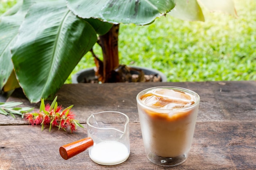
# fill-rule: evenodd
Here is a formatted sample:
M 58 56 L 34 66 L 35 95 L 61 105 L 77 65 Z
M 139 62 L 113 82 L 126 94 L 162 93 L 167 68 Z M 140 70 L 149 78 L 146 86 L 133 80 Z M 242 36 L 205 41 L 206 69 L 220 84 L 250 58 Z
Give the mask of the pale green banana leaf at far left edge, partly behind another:
M 22 1 L 20 1 L 22 2 Z M 0 18 L 0 90 L 6 84 L 13 70 L 11 46 L 16 41 L 18 29 L 27 10 L 36 0 L 24 0 L 23 5 L 15 5 Z M 20 9 L 18 9 L 18 7 Z

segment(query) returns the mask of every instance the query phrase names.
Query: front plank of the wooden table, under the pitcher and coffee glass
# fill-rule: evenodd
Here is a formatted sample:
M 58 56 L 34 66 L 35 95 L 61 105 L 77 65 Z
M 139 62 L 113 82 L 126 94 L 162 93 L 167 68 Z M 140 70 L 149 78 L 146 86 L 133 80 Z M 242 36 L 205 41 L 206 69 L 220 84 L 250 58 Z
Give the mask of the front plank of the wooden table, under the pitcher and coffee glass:
M 255 121 L 197 122 L 189 158 L 172 169 L 256 169 L 255 134 Z M 62 159 L 58 151 L 60 146 L 85 137 L 86 128 L 70 135 L 56 128 L 49 133 L 47 130 L 41 132 L 39 126 L 2 126 L 0 169 L 168 169 L 156 166 L 146 158 L 138 123 L 130 123 L 130 157 L 116 166 L 94 163 L 88 150 L 67 161 Z

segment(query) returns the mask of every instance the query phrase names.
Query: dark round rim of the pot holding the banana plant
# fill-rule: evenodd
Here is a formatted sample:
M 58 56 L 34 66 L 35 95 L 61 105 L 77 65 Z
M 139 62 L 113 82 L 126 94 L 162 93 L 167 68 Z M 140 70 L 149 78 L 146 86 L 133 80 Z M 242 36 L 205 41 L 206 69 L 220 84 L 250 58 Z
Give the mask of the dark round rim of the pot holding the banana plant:
M 141 69 L 144 72 L 145 75 L 160 76 L 161 79 L 162 79 L 161 82 L 166 82 L 167 81 L 167 77 L 164 75 L 164 73 L 162 73 L 160 71 L 157 71 L 155 69 L 139 67 L 139 66 L 132 66 L 132 68 Z M 84 82 L 85 77 L 86 77 L 86 79 L 95 79 L 94 69 L 93 68 L 86 68 L 86 69 L 83 69 L 83 70 L 75 73 L 72 77 L 72 83 L 77 84 L 77 83 Z

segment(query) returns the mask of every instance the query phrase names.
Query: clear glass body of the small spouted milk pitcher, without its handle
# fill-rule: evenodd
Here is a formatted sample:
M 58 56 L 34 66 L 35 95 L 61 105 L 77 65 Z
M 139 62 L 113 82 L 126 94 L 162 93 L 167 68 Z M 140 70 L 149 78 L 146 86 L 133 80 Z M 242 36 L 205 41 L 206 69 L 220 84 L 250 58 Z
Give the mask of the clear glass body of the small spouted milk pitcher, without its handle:
M 124 113 L 104 111 L 87 119 L 88 137 L 94 145 L 89 148 L 92 161 L 102 165 L 115 165 L 130 155 L 129 118 Z

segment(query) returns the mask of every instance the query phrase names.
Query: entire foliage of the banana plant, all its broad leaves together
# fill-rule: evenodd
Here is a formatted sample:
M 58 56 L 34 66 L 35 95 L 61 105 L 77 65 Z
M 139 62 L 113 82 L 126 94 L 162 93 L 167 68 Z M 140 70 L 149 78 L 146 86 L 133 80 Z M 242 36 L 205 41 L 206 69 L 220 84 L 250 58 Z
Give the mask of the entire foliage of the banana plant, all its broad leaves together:
M 236 16 L 232 0 L 19 1 L 0 17 L 0 90 L 19 85 L 30 102 L 53 99 L 112 24 L 145 25 L 167 13 L 203 21 L 202 6 Z

